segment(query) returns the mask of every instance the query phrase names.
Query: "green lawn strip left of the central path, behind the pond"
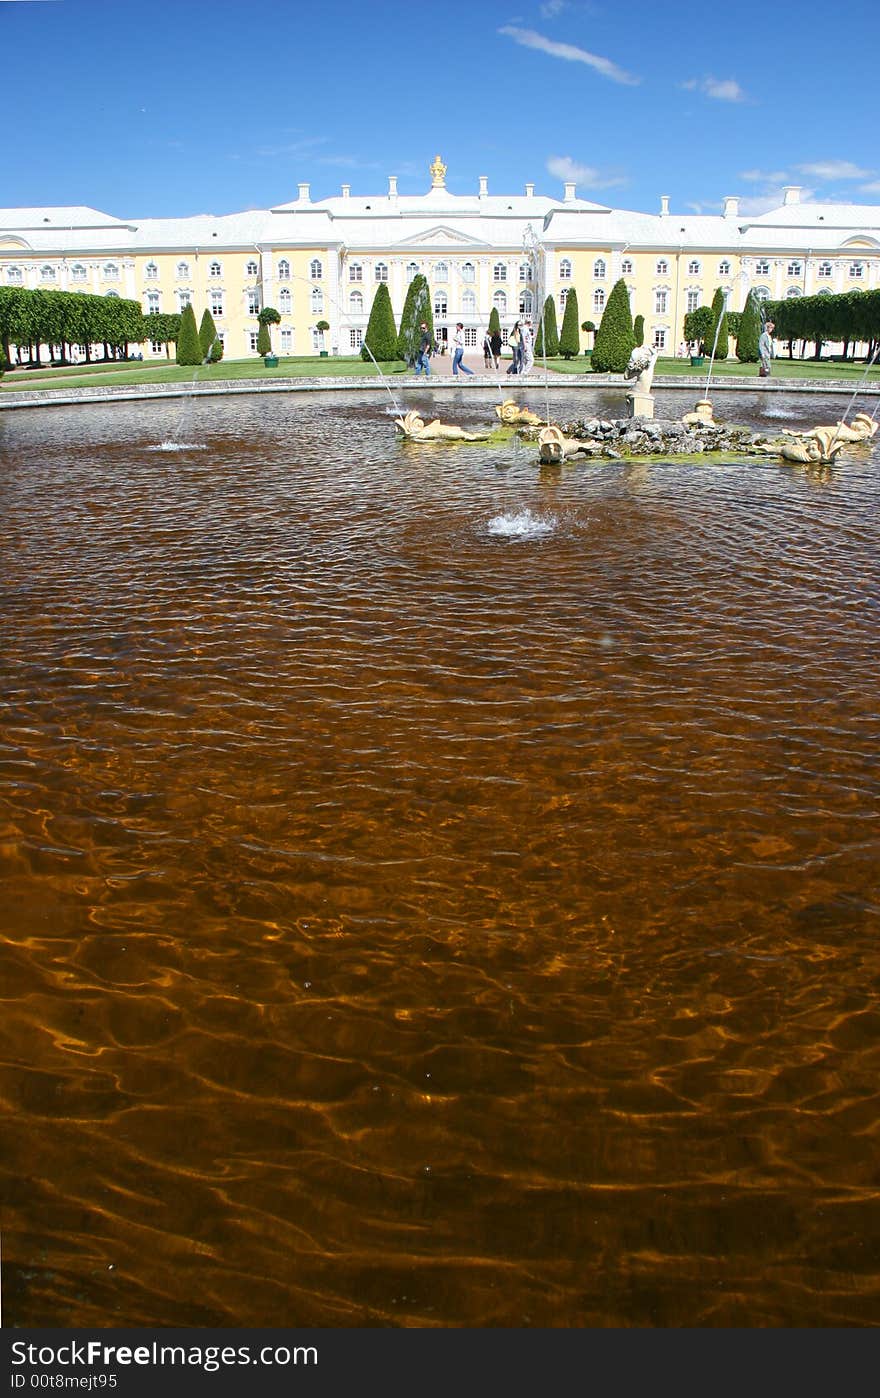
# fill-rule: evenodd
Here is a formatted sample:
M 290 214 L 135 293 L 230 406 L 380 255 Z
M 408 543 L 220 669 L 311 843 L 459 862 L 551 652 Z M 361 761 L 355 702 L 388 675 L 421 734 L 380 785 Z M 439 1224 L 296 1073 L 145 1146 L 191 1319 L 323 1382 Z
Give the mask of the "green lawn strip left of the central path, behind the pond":
M 267 369 L 262 359 L 221 359 L 197 369 L 185 369 L 165 361 L 129 359 L 119 363 L 66 365 L 60 369 L 13 369 L 0 380 L 0 391 L 20 393 L 22 389 L 87 389 L 90 384 L 139 383 L 210 383 L 231 379 L 350 379 L 375 377 L 376 366 L 360 355 L 327 356 L 304 355 L 278 359 L 276 369 Z M 382 365 L 382 373 L 407 373 L 403 361 Z

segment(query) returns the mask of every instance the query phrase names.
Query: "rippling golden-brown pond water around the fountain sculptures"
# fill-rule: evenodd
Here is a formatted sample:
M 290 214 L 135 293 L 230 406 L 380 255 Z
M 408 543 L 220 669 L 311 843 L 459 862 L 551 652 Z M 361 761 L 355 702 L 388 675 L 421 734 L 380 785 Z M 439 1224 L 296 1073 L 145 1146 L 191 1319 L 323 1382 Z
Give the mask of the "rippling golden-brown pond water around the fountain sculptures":
M 880 449 L 0 456 L 7 1325 L 880 1321 Z

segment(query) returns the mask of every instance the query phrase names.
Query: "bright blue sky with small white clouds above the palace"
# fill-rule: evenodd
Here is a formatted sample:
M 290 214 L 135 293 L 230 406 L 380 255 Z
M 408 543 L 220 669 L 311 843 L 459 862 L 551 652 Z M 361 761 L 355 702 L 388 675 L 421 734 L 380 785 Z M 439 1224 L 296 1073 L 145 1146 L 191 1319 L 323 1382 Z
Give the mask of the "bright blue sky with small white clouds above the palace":
M 0 0 L 0 204 L 127 217 L 424 193 L 880 204 L 876 0 Z

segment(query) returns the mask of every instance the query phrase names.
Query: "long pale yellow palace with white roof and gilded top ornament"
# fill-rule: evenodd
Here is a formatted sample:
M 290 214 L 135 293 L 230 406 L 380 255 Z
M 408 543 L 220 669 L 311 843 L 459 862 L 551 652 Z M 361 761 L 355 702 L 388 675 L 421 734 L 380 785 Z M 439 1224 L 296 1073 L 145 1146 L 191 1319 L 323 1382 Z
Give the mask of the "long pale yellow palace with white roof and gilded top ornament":
M 395 316 L 417 273 L 427 277 L 437 336 L 456 322 L 481 343 L 497 308 L 502 336 L 515 320 L 537 322 L 546 296 L 557 316 L 574 287 L 579 319 L 599 324 L 611 287 L 624 278 L 645 343 L 674 352 L 688 310 L 730 292 L 741 309 L 761 298 L 809 296 L 880 287 L 880 206 L 818 204 L 789 186 L 779 208 L 743 217 L 726 197 L 719 214 L 610 208 L 578 199 L 473 194 L 446 189 L 439 155 L 423 194 L 400 194 L 390 176 L 382 194 L 350 185 L 313 201 L 309 186 L 276 208 L 193 218 L 120 219 L 84 207 L 0 210 L 0 287 L 85 291 L 139 301 L 144 312 L 200 319 L 211 310 L 227 358 L 256 354 L 257 315 L 274 306 L 276 352 L 357 354 L 379 282 Z M 318 329 L 319 324 L 329 330 Z M 162 345 L 144 347 L 147 356 Z

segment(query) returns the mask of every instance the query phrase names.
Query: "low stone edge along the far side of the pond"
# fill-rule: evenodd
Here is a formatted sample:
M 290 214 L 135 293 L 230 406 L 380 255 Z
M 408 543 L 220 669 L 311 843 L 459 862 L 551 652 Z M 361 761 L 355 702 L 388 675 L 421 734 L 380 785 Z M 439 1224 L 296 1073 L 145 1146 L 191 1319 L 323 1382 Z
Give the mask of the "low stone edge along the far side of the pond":
M 24 391 L 0 390 L 0 410 L 3 408 L 46 408 L 46 407 L 71 407 L 76 404 L 87 403 L 148 403 L 155 398 L 211 398 L 211 397 L 235 397 L 238 394 L 255 394 L 255 393 L 346 393 L 372 390 L 375 393 L 388 393 L 397 389 L 430 389 L 435 391 L 438 389 L 453 389 L 453 390 L 469 390 L 476 389 L 497 389 L 498 384 L 488 375 L 474 376 L 474 380 L 469 379 L 450 379 L 441 377 L 439 375 L 432 376 L 430 380 L 425 379 L 395 379 L 390 383 L 386 379 L 376 377 L 351 377 L 351 379 L 273 379 L 270 383 L 260 383 L 257 379 L 218 379 L 211 383 L 141 383 L 136 387 L 126 389 L 120 384 L 108 384 L 102 389 L 99 384 L 81 387 L 81 389 L 25 389 Z M 504 384 L 502 391 L 511 393 L 516 389 L 525 387 L 525 383 Z M 544 379 L 539 375 L 527 380 L 527 387 L 534 391 L 548 390 L 548 389 L 627 389 L 628 383 L 617 375 L 603 375 L 603 373 L 571 373 L 571 375 L 555 375 L 551 379 Z M 804 393 L 804 394 L 842 394 L 842 396 L 879 396 L 880 383 L 873 384 L 856 384 L 853 386 L 849 380 L 841 379 L 775 379 L 771 383 L 765 380 L 758 380 L 755 377 L 748 379 L 722 379 L 714 386 L 715 393 L 728 391 L 751 391 L 751 393 Z M 698 397 L 704 396 L 701 384 L 694 379 L 683 377 L 665 377 L 662 380 L 655 380 L 653 393 L 663 393 L 666 390 L 693 390 Z

